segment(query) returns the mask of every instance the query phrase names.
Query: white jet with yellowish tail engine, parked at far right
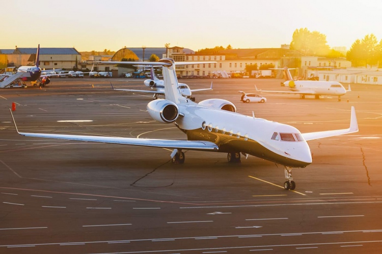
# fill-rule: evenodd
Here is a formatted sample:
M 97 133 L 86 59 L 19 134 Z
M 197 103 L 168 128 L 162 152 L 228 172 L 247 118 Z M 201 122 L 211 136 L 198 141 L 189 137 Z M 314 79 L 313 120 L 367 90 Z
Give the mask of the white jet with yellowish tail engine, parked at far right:
M 290 74 L 290 69 L 284 67 L 284 75 L 287 77 L 287 80 L 282 83 L 282 86 L 288 87 L 290 91 L 267 91 L 257 89 L 256 91 L 261 92 L 279 92 L 279 93 L 297 93 L 300 94 L 301 99 L 305 99 L 305 96 L 312 95 L 315 99 L 319 99 L 321 95 L 323 96 L 338 96 L 338 101 L 341 101 L 341 96 L 343 96 L 347 91 L 351 91 L 350 85 L 346 90 L 341 83 L 336 81 L 312 81 L 312 80 L 293 80 L 292 75 Z

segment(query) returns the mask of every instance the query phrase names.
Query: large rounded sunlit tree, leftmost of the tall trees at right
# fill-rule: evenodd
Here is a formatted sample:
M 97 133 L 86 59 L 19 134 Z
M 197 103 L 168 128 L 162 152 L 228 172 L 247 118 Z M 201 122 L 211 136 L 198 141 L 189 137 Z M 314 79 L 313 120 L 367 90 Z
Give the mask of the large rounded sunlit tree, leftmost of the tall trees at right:
M 308 28 L 294 30 L 290 49 L 298 50 L 304 55 L 325 56 L 329 52 L 326 36 Z

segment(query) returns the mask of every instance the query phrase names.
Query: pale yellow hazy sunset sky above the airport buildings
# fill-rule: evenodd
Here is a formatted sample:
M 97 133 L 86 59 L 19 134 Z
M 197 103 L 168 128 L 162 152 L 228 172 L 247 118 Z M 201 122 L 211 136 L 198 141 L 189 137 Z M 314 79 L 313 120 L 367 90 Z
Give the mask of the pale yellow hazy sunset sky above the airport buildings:
M 2 5 L 0 49 L 280 48 L 306 27 L 348 50 L 368 34 L 382 40 L 381 13 L 382 0 L 13 0 Z

